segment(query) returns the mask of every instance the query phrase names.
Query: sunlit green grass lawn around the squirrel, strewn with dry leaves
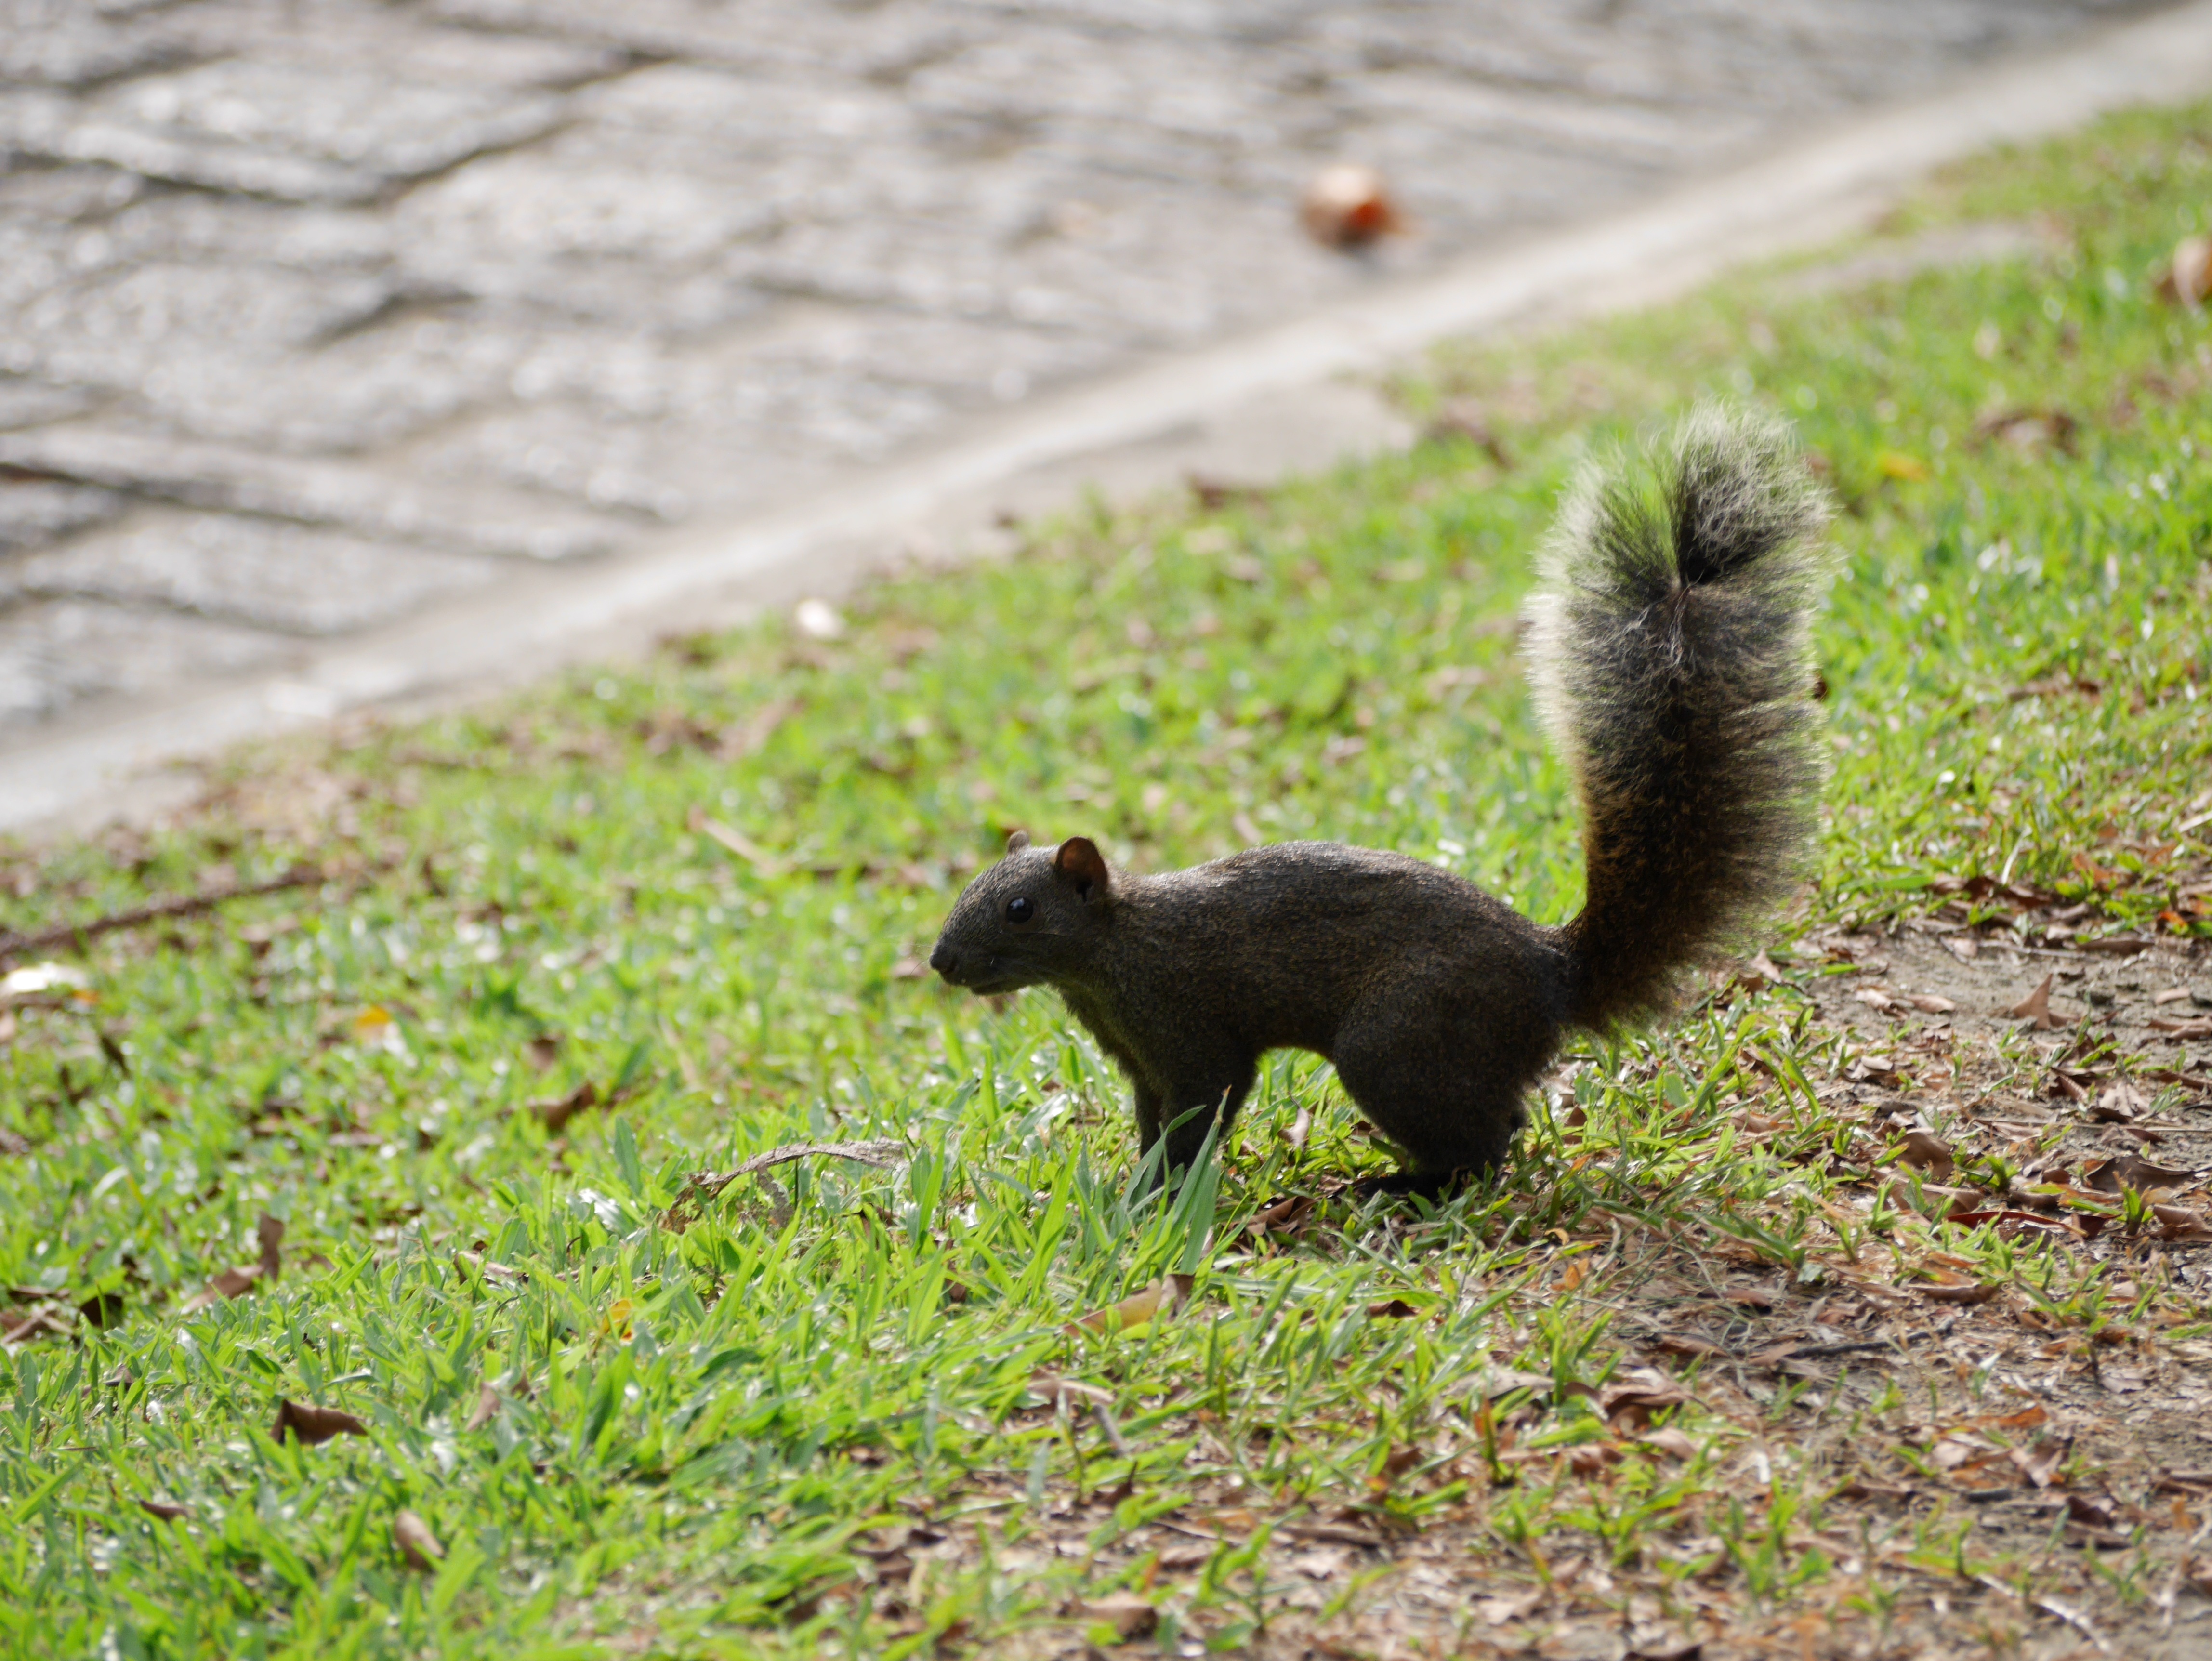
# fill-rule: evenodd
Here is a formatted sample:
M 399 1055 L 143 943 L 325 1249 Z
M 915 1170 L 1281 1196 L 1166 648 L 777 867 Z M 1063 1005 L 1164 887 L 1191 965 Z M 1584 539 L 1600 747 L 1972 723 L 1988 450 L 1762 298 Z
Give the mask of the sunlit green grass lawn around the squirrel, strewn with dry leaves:
M 1896 1391 L 1759 1402 L 1692 1367 L 1697 1400 L 1652 1409 L 1688 1458 L 1606 1418 L 1619 1312 L 1686 1252 L 1785 1292 L 1960 1263 L 2059 1334 L 2203 1318 L 2148 1272 L 2115 1314 L 2070 1243 L 1854 1199 L 1823 1095 L 1849 1053 L 1790 989 L 1579 1055 L 1509 1181 L 1438 1212 L 1354 1212 L 1327 1179 L 1385 1157 L 1327 1068 L 1276 1057 L 1217 1177 L 1159 1208 L 1057 1002 L 962 1002 L 914 960 L 1018 825 L 1137 867 L 1332 836 L 1568 913 L 1573 803 L 1513 608 L 1588 449 L 1705 394 L 1792 414 L 1847 509 L 1823 880 L 1776 955 L 1982 874 L 2088 902 L 2090 933 L 2212 936 L 2183 891 L 2208 827 L 2181 829 L 2212 807 L 2212 327 L 2150 292 L 2199 228 L 2205 144 L 2208 111 L 2130 115 L 1900 219 L 2035 215 L 2037 257 L 1849 294 L 1747 276 L 1409 383 L 1480 400 L 1511 469 L 1431 442 L 1040 526 L 1002 564 L 867 588 L 836 644 L 681 641 L 241 761 L 161 832 L 11 852 L 0 924 L 24 931 L 296 858 L 323 880 L 60 951 L 86 995 L 0 1015 L 0 1124 L 29 1148 L 0 1161 L 0 1281 L 69 1331 L 7 1362 L 7 1652 L 1018 1650 L 1082 1641 L 1115 1586 L 1164 1610 L 1144 1646 L 1237 1648 L 1358 1619 L 1358 1564 L 1321 1608 L 1270 1568 L 1314 1519 L 1464 1539 L 1500 1588 L 1577 1553 L 1754 1626 L 2059 1573 L 1991 1557 L 1958 1506 L 1860 1526 L 1814 1431 L 1909 1446 L 1936 1411 Z M 2066 445 L 1982 431 L 1995 411 Z M 549 1135 L 529 1104 L 586 1082 L 615 1106 Z M 688 1190 L 883 1137 L 902 1163 Z M 1316 1197 L 1305 1232 L 1254 1230 L 1283 1194 Z M 263 1214 L 283 1276 L 186 1307 L 257 1258 Z M 1170 1274 L 1194 1276 L 1172 1318 L 1066 1331 Z M 1504 1367 L 1551 1391 L 1484 1409 L 1469 1378 Z M 367 1433 L 272 1440 L 279 1400 Z M 445 1544 L 429 1573 L 403 1508 Z M 1232 1537 L 1175 1573 L 1119 1550 L 1157 1517 Z M 887 1575 L 920 1524 L 951 1548 Z M 2152 1557 L 2097 1570 L 2117 1606 Z

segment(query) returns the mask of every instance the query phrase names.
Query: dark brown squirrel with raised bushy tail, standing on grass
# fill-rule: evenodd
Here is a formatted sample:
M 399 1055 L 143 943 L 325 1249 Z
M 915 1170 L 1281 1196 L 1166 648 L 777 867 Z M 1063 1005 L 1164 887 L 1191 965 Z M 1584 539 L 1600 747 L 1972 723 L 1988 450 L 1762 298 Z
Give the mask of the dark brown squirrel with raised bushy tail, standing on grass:
M 1128 876 L 1015 832 L 945 922 L 953 986 L 1048 984 L 1128 1073 L 1146 1150 L 1228 1132 L 1261 1053 L 1318 1051 L 1436 1192 L 1498 1168 L 1573 1031 L 1663 1015 L 1798 880 L 1825 761 L 1812 615 L 1827 502 L 1787 427 L 1699 409 L 1586 471 L 1528 606 L 1528 668 L 1584 812 L 1559 927 L 1402 854 L 1281 843 Z M 1197 1108 L 1197 1112 L 1190 1112 Z

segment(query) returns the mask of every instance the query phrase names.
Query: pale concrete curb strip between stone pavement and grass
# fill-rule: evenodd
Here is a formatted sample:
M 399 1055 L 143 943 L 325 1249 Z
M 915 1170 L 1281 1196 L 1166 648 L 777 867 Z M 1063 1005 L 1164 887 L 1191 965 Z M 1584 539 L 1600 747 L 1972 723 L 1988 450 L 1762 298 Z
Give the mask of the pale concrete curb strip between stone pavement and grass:
M 931 456 L 801 506 L 573 571 L 524 571 L 491 595 L 310 648 L 252 677 L 66 723 L 0 752 L 0 829 L 150 812 L 192 783 L 150 770 L 367 706 L 445 701 L 832 593 L 885 551 L 964 537 L 1002 506 L 1046 506 L 1086 480 L 1144 489 L 1228 453 L 1243 478 L 1389 442 L 1387 411 L 1345 376 L 1531 316 L 1648 303 L 1717 270 L 1869 223 L 1929 168 L 2128 104 L 2212 91 L 2212 0 L 1984 71 L 1940 100 L 1836 126 L 1783 155 L 1444 272 L 1391 283 L 1239 341 L 1040 400 Z

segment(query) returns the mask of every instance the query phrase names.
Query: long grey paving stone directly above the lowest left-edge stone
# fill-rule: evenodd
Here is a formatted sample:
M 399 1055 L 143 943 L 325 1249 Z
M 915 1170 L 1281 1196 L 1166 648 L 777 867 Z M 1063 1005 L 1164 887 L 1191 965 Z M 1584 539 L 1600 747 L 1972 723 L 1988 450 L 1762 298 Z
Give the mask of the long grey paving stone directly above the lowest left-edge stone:
M 4 500 L 4 498 L 0 498 Z M 157 513 L 15 566 L 24 595 L 168 606 L 292 635 L 341 635 L 480 588 L 498 560 L 394 549 L 230 513 Z

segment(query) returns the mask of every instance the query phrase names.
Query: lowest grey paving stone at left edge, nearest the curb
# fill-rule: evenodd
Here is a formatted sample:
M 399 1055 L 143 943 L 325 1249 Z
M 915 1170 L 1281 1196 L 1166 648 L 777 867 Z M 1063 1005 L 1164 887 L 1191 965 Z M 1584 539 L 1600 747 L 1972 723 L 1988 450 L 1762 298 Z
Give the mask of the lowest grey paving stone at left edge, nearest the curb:
M 168 610 L 42 602 L 0 613 L 0 721 L 60 714 L 102 694 L 148 694 L 210 675 L 268 670 L 296 644 Z

